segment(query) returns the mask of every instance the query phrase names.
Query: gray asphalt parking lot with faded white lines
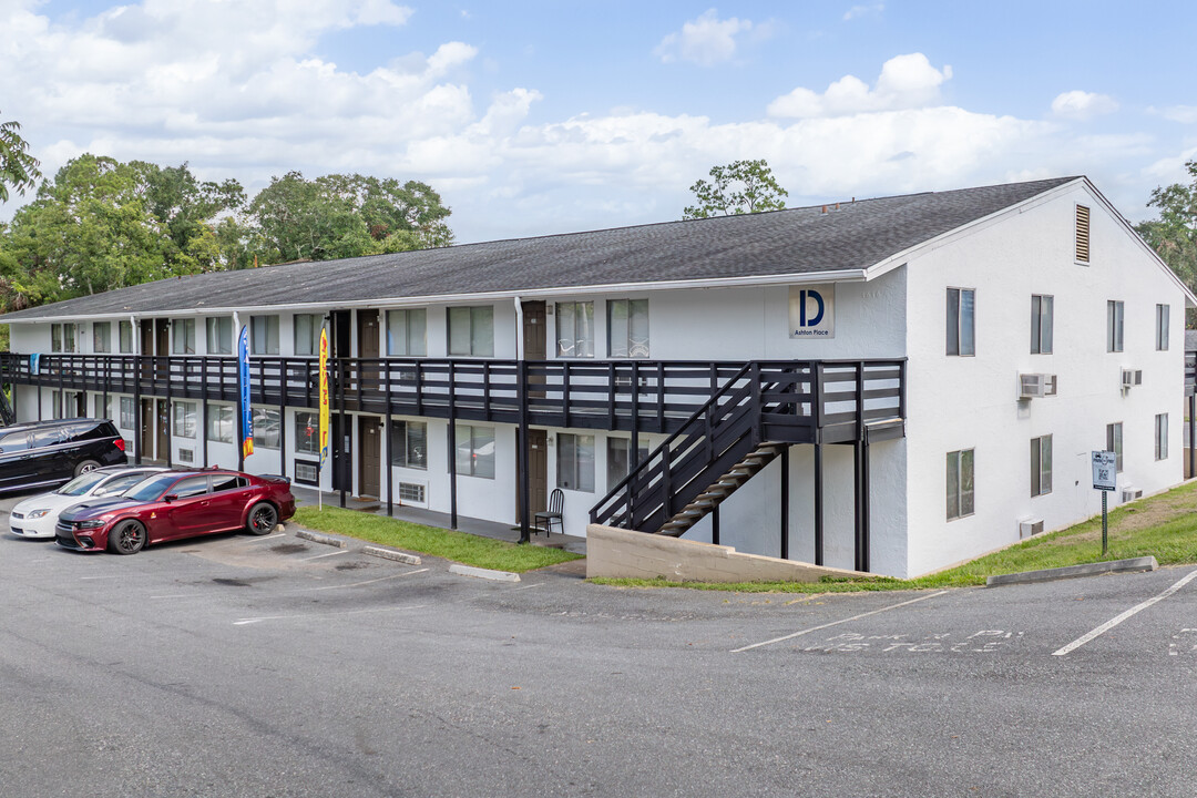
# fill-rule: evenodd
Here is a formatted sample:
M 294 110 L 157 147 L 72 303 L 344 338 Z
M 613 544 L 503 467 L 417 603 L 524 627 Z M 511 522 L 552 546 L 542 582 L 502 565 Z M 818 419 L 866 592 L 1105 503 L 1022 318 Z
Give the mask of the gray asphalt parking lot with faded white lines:
M 293 531 L 0 537 L 0 794 L 1195 792 L 1197 567 L 734 595 Z

